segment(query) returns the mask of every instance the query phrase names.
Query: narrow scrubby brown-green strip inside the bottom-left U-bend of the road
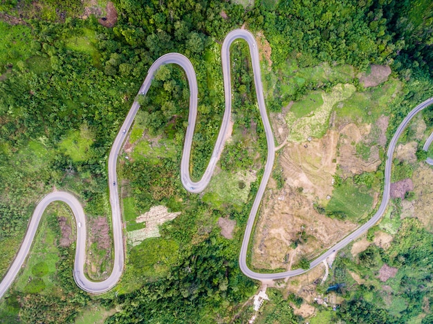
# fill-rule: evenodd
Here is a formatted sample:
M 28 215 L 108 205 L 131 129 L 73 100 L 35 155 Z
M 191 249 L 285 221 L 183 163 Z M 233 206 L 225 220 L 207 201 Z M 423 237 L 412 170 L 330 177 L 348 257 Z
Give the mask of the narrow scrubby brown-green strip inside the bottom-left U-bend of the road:
M 95 280 L 107 278 L 111 269 L 111 236 L 107 218 L 104 216 L 88 218 L 90 252 L 86 259 L 87 273 Z

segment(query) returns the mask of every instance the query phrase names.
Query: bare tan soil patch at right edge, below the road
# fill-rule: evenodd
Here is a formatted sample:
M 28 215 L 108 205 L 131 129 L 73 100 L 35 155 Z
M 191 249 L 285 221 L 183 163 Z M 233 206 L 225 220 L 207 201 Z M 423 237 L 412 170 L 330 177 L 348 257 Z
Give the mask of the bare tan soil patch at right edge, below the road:
M 427 231 L 433 233 L 433 170 L 425 163 L 421 163 L 412 175 L 414 182 L 414 216 L 420 220 Z

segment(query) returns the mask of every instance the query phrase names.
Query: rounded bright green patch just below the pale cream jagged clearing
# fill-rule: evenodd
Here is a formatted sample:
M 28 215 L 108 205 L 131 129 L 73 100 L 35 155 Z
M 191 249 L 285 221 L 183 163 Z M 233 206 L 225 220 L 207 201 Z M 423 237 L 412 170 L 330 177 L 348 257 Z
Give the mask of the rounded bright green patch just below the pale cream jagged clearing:
M 142 276 L 165 276 L 178 260 L 179 245 L 175 240 L 147 238 L 131 249 L 129 263 Z

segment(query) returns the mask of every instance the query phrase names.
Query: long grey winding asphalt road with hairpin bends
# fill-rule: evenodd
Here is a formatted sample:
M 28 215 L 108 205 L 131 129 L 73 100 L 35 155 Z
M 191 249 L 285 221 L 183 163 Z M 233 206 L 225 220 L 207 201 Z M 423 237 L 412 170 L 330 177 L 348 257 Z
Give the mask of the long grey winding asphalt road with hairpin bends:
M 248 243 L 250 242 L 250 236 L 252 233 L 252 228 L 255 223 L 255 217 L 257 215 L 257 211 L 260 206 L 261 199 L 263 198 L 264 191 L 266 189 L 266 185 L 268 183 L 270 173 L 273 169 L 273 164 L 275 160 L 275 142 L 273 137 L 272 128 L 270 127 L 270 123 L 268 120 L 268 115 L 266 113 L 266 106 L 264 102 L 263 88 L 261 84 L 261 73 L 260 73 L 260 62 L 259 62 L 259 51 L 257 50 L 257 46 L 255 46 L 255 38 L 254 36 L 248 32 L 248 30 L 233 30 L 230 32 L 227 37 L 225 37 L 223 46 L 221 49 L 221 60 L 223 66 L 223 79 L 224 79 L 224 90 L 225 90 L 225 112 L 223 115 L 223 121 L 221 123 L 221 129 L 219 131 L 219 135 L 217 137 L 214 150 L 212 152 L 212 156 L 210 158 L 210 162 L 203 173 L 203 177 L 198 182 L 193 182 L 190 177 L 190 153 L 191 153 L 191 145 L 192 145 L 192 137 L 194 135 L 194 127 L 196 123 L 196 115 L 197 115 L 197 99 L 198 99 L 198 88 L 196 82 L 196 74 L 194 71 L 194 67 L 187 57 L 178 54 L 178 53 L 169 53 L 163 55 L 159 59 L 157 59 L 154 64 L 149 68 L 147 77 L 143 82 L 138 94 L 145 95 L 147 90 L 151 85 L 151 81 L 156 73 L 156 70 L 159 66 L 163 64 L 178 64 L 181 66 L 183 70 L 185 70 L 185 74 L 188 79 L 188 84 L 190 88 L 190 112 L 188 115 L 188 126 L 185 135 L 185 144 L 183 146 L 183 156 L 181 160 L 181 181 L 183 187 L 187 191 L 192 193 L 200 193 L 205 189 L 205 187 L 210 182 L 210 178 L 212 177 L 212 173 L 214 172 L 214 168 L 216 166 L 216 162 L 219 160 L 219 156 L 221 151 L 223 150 L 223 146 L 225 143 L 225 133 L 228 128 L 228 123 L 230 121 L 231 114 L 231 106 L 232 106 L 232 91 L 231 91 L 231 79 L 230 79 L 230 45 L 236 39 L 244 39 L 250 48 L 250 56 L 252 62 L 252 70 L 254 73 L 254 81 L 255 81 L 255 89 L 257 95 L 257 103 L 259 105 L 259 111 L 261 115 L 261 120 L 264 124 L 264 130 L 266 133 L 266 142 L 268 144 L 268 156 L 266 159 L 266 165 L 264 169 L 264 174 L 261 179 L 261 183 L 259 186 L 259 190 L 257 191 L 257 195 L 252 204 L 252 209 L 250 211 L 250 216 L 248 217 L 248 222 L 245 230 L 245 235 L 243 236 L 243 242 L 241 246 L 241 252 L 239 255 L 239 266 L 246 276 L 257 279 L 257 280 L 265 280 L 265 279 L 278 279 L 278 278 L 286 278 L 290 276 L 297 276 L 299 274 L 303 274 L 308 270 L 297 269 L 292 271 L 284 271 L 277 274 L 261 274 L 255 271 L 252 271 L 248 268 L 246 263 L 247 252 L 248 252 Z M 331 247 L 328 251 L 324 252 L 317 259 L 313 260 L 310 264 L 310 269 L 315 267 L 316 265 L 322 263 L 329 255 L 333 254 L 334 251 L 338 249 L 342 249 L 345 247 L 351 240 L 358 238 L 362 233 L 367 231 L 371 226 L 373 226 L 383 215 L 385 209 L 387 207 L 389 201 L 389 186 L 391 179 L 391 162 L 392 155 L 394 154 L 394 149 L 396 147 L 396 142 L 398 137 L 400 137 L 403 132 L 405 126 L 412 120 L 412 117 L 416 115 L 419 111 L 423 110 L 425 107 L 433 104 L 433 98 L 430 98 L 423 102 L 422 104 L 416 106 L 409 115 L 403 120 L 402 124 L 398 127 L 396 134 L 392 138 L 389 149 L 387 152 L 387 161 L 385 166 L 385 189 L 383 193 L 383 200 L 380 204 L 380 207 L 376 214 L 371 218 L 368 222 L 366 222 L 362 227 L 354 231 L 352 234 L 338 242 L 336 245 Z M 112 218 L 112 226 L 113 226 L 113 241 L 114 241 L 114 263 L 113 269 L 111 271 L 111 275 L 103 281 L 94 282 L 86 278 L 84 275 L 84 261 L 86 255 L 86 218 L 84 215 L 84 211 L 80 202 L 73 196 L 71 193 L 66 193 L 63 191 L 55 191 L 53 193 L 49 193 L 45 196 L 36 206 L 35 211 L 33 212 L 33 216 L 30 219 L 28 229 L 26 232 L 26 236 L 24 237 L 23 242 L 21 243 L 21 247 L 18 251 L 15 260 L 12 262 L 12 265 L 8 269 L 6 276 L 0 283 L 0 298 L 6 294 L 6 291 L 12 284 L 13 280 L 17 276 L 19 269 L 24 264 L 26 260 L 26 256 L 30 251 L 30 247 L 33 242 L 33 238 L 35 237 L 37 227 L 39 225 L 39 221 L 42 218 L 42 214 L 44 213 L 46 207 L 51 202 L 62 201 L 66 203 L 73 215 L 75 217 L 75 222 L 77 222 L 77 246 L 75 251 L 75 263 L 73 269 L 73 277 L 75 279 L 75 283 L 77 286 L 83 289 L 86 292 L 92 294 L 102 294 L 104 292 L 109 291 L 109 289 L 113 288 L 122 276 L 124 263 L 125 263 L 125 245 L 124 245 L 124 237 L 123 237 L 123 223 L 122 223 L 122 214 L 120 209 L 119 202 L 119 193 L 117 186 L 117 160 L 118 153 L 120 149 L 122 149 L 123 142 L 125 141 L 126 133 L 131 128 L 131 124 L 133 122 L 136 113 L 140 108 L 140 104 L 134 101 L 129 113 L 125 119 L 125 122 L 122 124 L 116 139 L 114 140 L 113 147 L 111 148 L 109 155 L 109 163 L 108 163 L 108 171 L 109 171 L 109 197 L 111 204 L 111 218 Z M 433 134 L 432 139 L 433 140 Z M 429 138 L 430 138 L 429 137 Z

